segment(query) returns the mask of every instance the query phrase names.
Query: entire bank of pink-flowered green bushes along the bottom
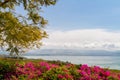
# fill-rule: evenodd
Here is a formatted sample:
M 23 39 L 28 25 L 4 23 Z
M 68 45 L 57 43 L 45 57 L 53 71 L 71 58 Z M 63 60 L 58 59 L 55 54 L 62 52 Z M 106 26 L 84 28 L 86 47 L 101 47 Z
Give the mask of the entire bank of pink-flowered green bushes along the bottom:
M 120 80 L 120 73 L 86 64 L 47 61 L 0 62 L 0 80 Z

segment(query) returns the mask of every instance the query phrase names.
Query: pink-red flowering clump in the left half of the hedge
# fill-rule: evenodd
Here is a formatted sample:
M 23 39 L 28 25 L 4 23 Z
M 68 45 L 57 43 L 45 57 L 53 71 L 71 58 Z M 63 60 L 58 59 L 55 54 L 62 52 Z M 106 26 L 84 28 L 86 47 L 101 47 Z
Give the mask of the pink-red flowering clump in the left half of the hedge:
M 35 65 L 32 62 L 28 62 L 25 65 L 16 65 L 16 74 L 18 75 L 18 78 L 26 77 L 27 79 L 33 79 L 39 77 L 42 72 L 35 67 Z

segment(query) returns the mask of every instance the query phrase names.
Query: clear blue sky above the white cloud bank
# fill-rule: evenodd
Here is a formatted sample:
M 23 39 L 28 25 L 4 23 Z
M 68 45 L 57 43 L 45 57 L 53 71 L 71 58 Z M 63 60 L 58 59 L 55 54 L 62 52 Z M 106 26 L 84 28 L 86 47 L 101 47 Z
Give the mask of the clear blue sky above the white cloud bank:
M 120 0 L 58 0 L 43 11 L 48 29 L 120 30 Z

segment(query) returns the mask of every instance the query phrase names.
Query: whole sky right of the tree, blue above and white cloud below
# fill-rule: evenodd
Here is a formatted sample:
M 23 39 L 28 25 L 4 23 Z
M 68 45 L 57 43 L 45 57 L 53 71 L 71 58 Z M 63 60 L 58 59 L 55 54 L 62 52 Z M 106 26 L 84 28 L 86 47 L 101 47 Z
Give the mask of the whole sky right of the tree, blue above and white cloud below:
M 42 48 L 120 50 L 120 0 L 58 0 L 42 10 Z

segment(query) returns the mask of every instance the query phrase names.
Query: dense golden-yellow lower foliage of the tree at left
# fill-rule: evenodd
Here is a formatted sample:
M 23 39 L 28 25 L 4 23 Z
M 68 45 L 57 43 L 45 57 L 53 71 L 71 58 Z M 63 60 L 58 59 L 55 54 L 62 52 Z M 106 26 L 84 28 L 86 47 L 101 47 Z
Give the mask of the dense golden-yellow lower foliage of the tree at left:
M 0 42 L 7 46 L 7 51 L 13 55 L 22 52 L 25 48 L 39 47 L 40 40 L 47 37 L 45 31 L 36 26 L 21 24 L 10 12 L 0 13 Z

